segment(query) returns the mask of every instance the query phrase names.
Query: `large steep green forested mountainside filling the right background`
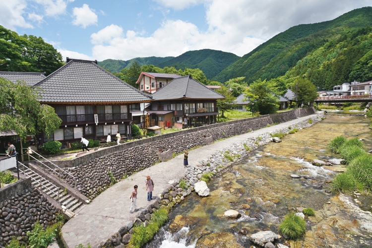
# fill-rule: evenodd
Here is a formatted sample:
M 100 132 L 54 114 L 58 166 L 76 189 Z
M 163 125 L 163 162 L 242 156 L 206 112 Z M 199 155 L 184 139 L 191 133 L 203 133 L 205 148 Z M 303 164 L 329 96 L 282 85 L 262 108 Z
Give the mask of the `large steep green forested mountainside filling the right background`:
M 320 23 L 302 24 L 261 44 L 212 80 L 245 76 L 282 77 L 288 83 L 305 77 L 331 89 L 343 82 L 372 80 L 372 7 L 355 9 Z

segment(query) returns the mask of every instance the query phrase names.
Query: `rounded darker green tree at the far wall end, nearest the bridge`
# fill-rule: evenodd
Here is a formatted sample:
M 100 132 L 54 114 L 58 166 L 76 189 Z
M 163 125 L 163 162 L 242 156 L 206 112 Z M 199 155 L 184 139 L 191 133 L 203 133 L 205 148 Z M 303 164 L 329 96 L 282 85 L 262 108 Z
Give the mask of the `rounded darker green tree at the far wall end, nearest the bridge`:
M 306 78 L 299 78 L 294 81 L 291 89 L 297 94 L 297 107 L 308 106 L 318 97 L 315 85 Z

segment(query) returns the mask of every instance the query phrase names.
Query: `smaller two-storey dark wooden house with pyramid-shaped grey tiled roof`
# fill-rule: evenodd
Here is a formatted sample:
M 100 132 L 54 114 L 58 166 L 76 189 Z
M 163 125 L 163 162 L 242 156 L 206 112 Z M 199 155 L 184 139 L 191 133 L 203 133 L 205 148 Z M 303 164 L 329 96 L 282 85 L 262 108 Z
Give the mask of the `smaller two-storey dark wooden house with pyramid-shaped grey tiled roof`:
M 151 96 L 150 125 L 178 128 L 216 123 L 217 100 L 225 98 L 191 75 L 173 79 Z

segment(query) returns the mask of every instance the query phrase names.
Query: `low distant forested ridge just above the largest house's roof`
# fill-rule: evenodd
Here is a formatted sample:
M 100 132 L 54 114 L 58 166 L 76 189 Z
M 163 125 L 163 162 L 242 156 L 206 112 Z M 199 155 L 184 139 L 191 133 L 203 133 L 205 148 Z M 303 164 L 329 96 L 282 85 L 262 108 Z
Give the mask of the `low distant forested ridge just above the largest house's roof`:
M 122 69 L 126 68 L 128 69 L 134 62 L 137 62 L 140 66 L 145 64 L 159 64 L 163 63 L 169 60 L 172 60 L 175 57 L 146 57 L 146 58 L 134 58 L 128 61 L 122 61 L 122 60 L 104 60 L 101 62 L 98 62 L 98 65 L 102 68 L 109 70 L 114 73 L 119 73 Z

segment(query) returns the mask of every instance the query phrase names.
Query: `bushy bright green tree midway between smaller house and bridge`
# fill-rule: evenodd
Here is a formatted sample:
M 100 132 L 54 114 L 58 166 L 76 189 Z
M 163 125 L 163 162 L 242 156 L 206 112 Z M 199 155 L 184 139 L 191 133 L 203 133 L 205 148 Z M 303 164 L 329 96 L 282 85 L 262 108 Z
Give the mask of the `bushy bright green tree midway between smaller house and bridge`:
M 251 83 L 245 91 L 246 100 L 249 101 L 249 109 L 258 110 L 261 115 L 275 113 L 278 108 L 278 97 L 273 89 L 270 88 L 266 79 L 258 79 Z

